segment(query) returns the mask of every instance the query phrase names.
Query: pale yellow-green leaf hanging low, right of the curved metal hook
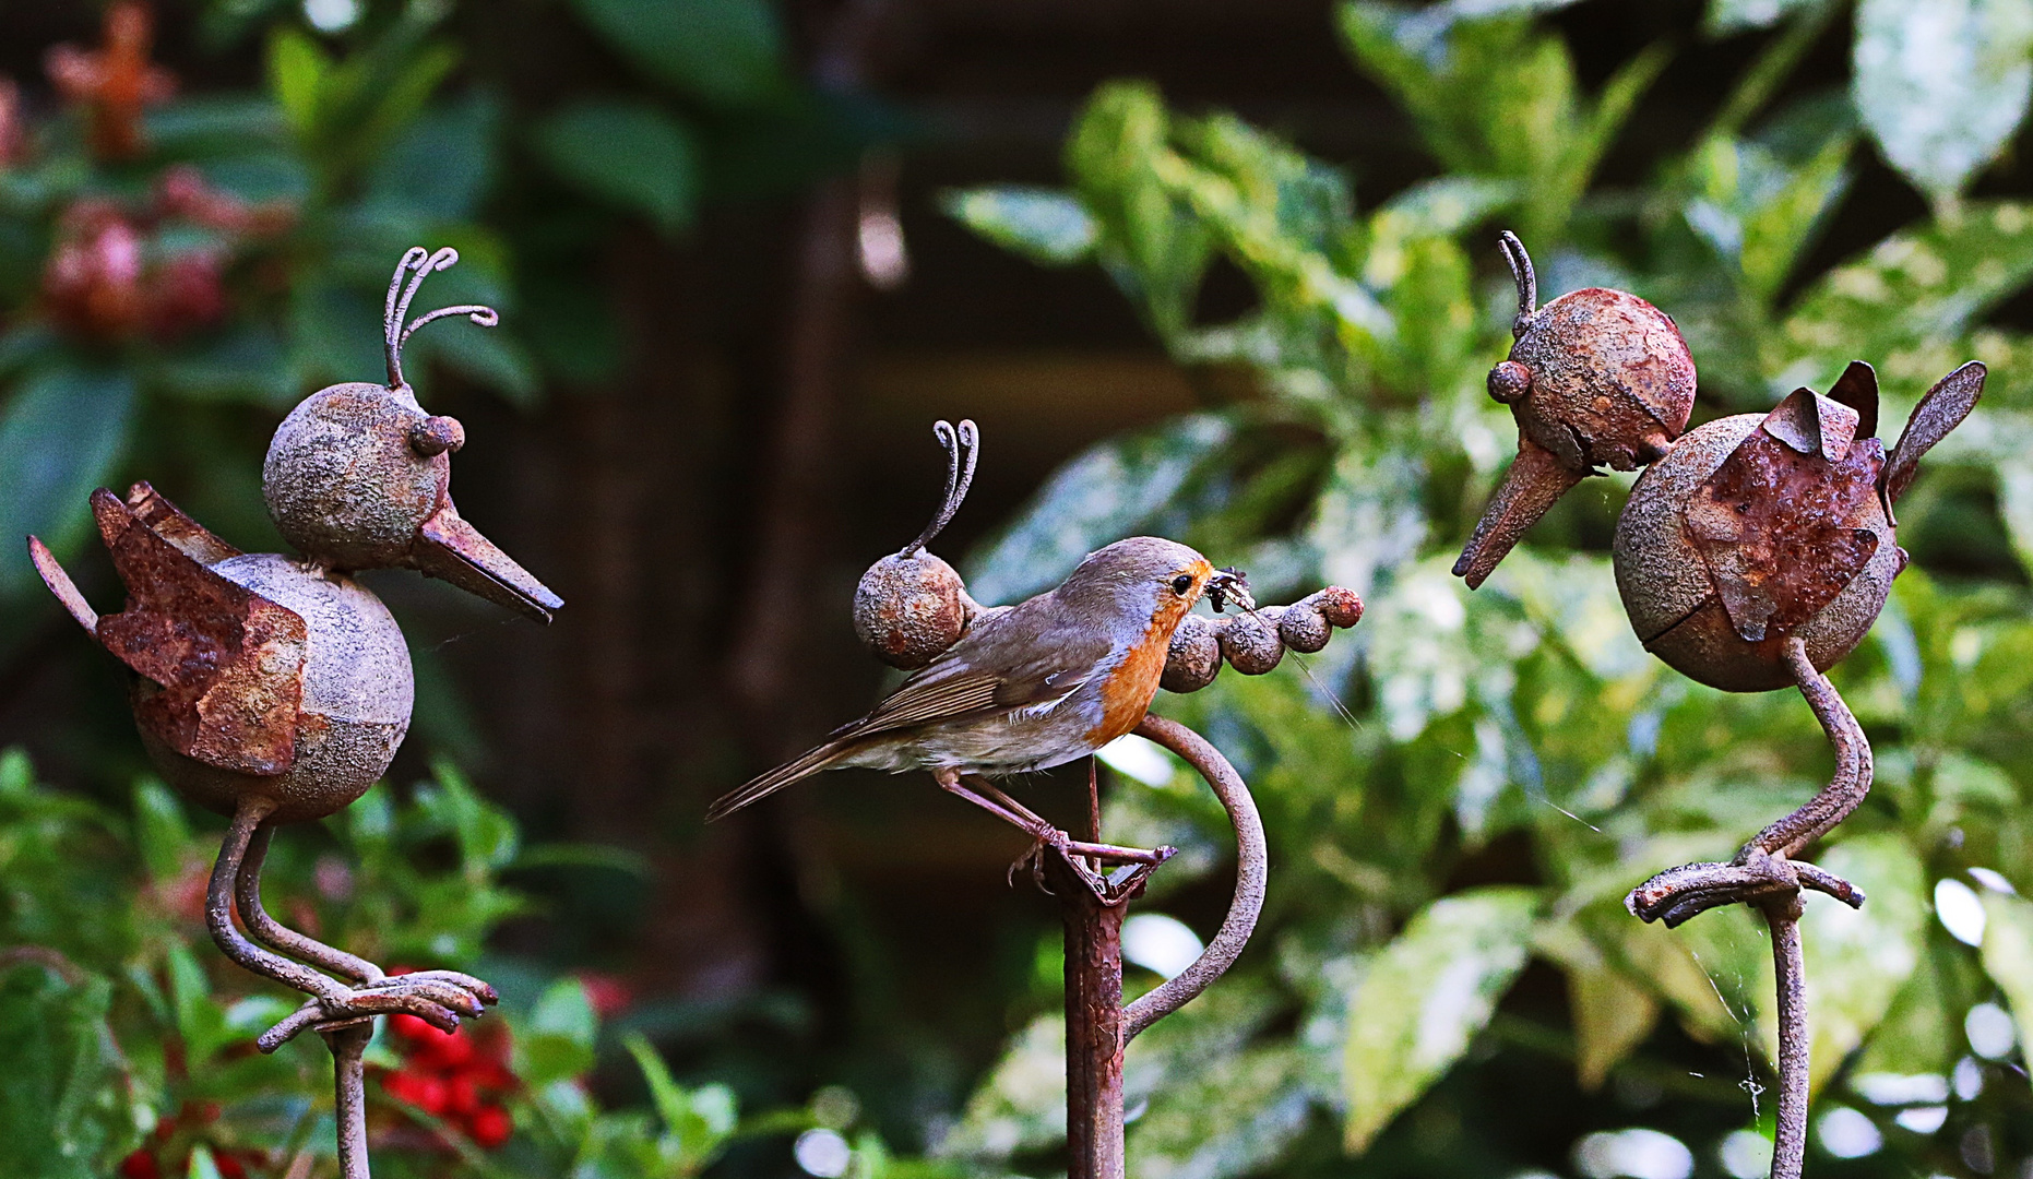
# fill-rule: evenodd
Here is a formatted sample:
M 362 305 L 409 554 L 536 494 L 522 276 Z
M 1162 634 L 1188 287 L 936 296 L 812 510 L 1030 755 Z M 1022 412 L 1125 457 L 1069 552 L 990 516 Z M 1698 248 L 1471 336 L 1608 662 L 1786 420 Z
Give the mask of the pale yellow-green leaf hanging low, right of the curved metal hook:
M 1468 1051 L 1525 968 L 1539 898 L 1472 888 L 1429 905 L 1370 964 L 1348 1004 L 1342 1140 L 1360 1155 Z

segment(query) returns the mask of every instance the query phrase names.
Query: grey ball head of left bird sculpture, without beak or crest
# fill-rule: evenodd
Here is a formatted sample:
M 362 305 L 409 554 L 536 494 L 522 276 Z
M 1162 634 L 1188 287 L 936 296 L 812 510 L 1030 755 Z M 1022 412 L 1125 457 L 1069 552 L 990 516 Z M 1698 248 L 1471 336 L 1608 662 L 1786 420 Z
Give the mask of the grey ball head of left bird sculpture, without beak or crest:
M 445 502 L 447 451 L 464 441 L 459 425 L 423 413 L 409 386 L 333 384 L 276 427 L 262 496 L 303 555 L 335 569 L 396 567 Z

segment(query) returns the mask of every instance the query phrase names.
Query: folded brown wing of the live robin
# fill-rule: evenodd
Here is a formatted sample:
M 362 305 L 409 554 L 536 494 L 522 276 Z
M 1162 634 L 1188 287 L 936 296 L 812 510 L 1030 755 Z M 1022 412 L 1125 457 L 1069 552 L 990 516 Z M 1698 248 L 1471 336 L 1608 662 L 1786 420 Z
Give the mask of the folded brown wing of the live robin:
M 866 738 L 1065 699 L 1114 648 L 1106 636 L 1039 634 L 1027 622 L 1025 614 L 1012 612 L 970 632 L 834 738 Z

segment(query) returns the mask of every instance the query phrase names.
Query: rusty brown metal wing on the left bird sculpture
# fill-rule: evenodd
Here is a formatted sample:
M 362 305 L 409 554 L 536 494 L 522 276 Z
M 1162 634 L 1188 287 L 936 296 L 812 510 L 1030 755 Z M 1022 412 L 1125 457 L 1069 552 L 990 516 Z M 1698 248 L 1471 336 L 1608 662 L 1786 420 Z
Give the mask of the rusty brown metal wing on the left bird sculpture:
M 264 777 L 289 770 L 303 701 L 303 618 L 207 569 L 193 549 L 226 549 L 224 541 L 152 488 L 138 504 L 100 488 L 91 514 L 128 587 L 126 610 L 100 616 L 94 632 L 161 687 L 134 705 L 134 718 L 205 764 Z

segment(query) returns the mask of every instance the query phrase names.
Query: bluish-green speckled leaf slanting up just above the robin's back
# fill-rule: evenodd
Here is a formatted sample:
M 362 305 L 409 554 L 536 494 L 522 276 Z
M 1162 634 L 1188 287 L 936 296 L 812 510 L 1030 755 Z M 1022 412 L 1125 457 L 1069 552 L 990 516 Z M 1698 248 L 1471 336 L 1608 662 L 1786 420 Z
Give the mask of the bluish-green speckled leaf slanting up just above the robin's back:
M 1057 585 L 1082 557 L 1145 526 L 1232 435 L 1228 419 L 1191 415 L 1090 449 L 968 563 L 968 585 L 990 604 Z

